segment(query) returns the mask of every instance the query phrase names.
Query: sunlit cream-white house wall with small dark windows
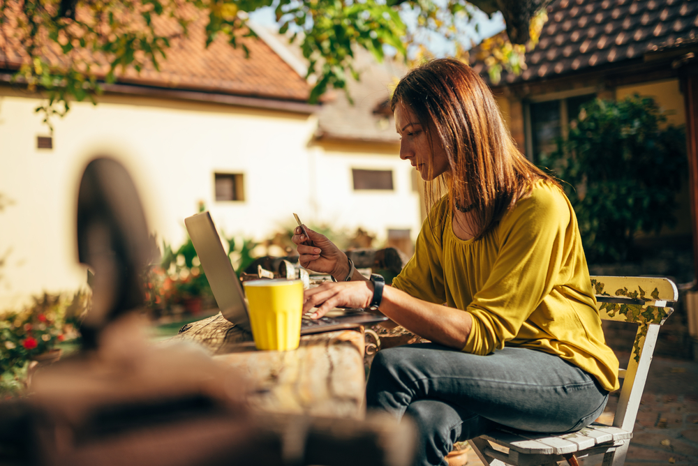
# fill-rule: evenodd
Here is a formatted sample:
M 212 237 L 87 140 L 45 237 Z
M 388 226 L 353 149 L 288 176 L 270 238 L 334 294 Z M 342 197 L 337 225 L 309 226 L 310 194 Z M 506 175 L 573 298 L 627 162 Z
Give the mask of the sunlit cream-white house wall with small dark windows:
M 419 228 L 410 167 L 395 156 L 325 153 L 310 147 L 315 117 L 150 98 L 75 103 L 55 118 L 54 149 L 36 149 L 48 135 L 34 113 L 39 100 L 0 89 L 0 193 L 14 204 L 0 212 L 0 310 L 30 294 L 84 285 L 77 264 L 75 200 L 84 166 L 105 154 L 131 172 L 149 227 L 172 246 L 186 239 L 184 217 L 205 202 L 226 234 L 264 239 L 292 223 L 362 226 L 385 239 L 387 228 Z M 354 193 L 351 168 L 393 168 L 392 193 Z M 214 172 L 241 172 L 244 202 L 214 201 Z

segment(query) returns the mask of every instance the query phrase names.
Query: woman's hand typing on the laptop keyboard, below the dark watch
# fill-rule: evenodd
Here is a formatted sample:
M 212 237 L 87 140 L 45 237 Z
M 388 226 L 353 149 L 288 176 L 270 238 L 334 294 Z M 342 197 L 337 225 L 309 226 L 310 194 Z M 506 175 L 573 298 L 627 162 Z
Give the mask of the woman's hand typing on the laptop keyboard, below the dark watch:
M 311 315 L 319 319 L 333 308 L 368 308 L 373 299 L 373 283 L 366 280 L 332 283 L 322 285 L 304 292 L 303 313 L 318 307 Z

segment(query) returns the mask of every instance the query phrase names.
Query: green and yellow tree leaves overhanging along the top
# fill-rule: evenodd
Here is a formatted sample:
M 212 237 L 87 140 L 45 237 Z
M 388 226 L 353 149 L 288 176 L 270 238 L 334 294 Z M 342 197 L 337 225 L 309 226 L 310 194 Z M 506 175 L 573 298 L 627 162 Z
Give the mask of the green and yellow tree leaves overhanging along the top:
M 129 69 L 158 70 L 170 47 L 187 38 L 198 18 L 205 20 L 207 46 L 223 36 L 248 54 L 241 38 L 256 36 L 248 28 L 248 13 L 268 6 L 276 8 L 280 32 L 295 31 L 291 42 L 300 38 L 309 75 L 318 75 L 313 102 L 328 87 L 346 89 L 348 76 L 357 78 L 355 46 L 379 61 L 386 46 L 407 57 L 417 34 L 406 27 L 403 15 L 416 15 L 420 31 L 447 40 L 463 40 L 473 17 L 473 6 L 463 0 L 3 0 L 0 45 L 5 57 L 15 55 L 9 48 L 19 53 L 15 82 L 47 92 L 47 103 L 36 110 L 50 126 L 52 115 L 68 112 L 70 100 L 89 98 L 94 103 L 101 81 L 114 82 Z M 542 27 L 537 18 L 533 37 Z M 521 69 L 522 55 L 512 54 L 507 44 L 504 40 L 485 47 L 484 53 L 495 57 L 488 65 L 492 70 L 507 60 L 512 70 Z M 464 48 L 459 47 L 459 54 Z

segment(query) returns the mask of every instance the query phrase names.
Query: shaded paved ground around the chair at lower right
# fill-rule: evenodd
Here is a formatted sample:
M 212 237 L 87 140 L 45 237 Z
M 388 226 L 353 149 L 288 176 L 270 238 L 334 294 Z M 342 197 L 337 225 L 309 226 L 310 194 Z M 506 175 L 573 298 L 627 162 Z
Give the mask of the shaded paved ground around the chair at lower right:
M 618 359 L 623 367 L 628 354 Z M 613 422 L 617 403 L 618 393 L 611 393 L 600 422 Z M 698 465 L 698 361 L 653 359 L 633 433 L 626 466 Z M 579 463 L 601 465 L 602 457 Z M 477 465 L 482 463 L 470 451 L 468 466 Z

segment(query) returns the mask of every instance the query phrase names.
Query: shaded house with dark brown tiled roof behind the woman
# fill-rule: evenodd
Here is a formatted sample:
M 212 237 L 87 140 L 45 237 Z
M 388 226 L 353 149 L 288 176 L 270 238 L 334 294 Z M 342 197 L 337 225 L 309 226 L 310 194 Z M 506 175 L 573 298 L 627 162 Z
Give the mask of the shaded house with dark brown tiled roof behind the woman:
M 565 135 L 579 106 L 595 97 L 652 96 L 669 123 L 685 125 L 690 173 L 679 194 L 678 223 L 660 239 L 685 245 L 678 257 L 698 265 L 698 4 L 689 0 L 557 0 L 547 8 L 540 41 L 526 53 L 521 75 L 503 73 L 491 88 L 514 140 L 536 160 Z M 489 81 L 477 49 L 473 68 Z M 645 236 L 644 240 L 652 239 Z M 656 238 L 655 238 L 656 239 Z M 607 269 L 597 274 L 614 274 Z M 628 272 L 626 272 L 628 273 Z M 661 273 L 644 270 L 638 273 Z M 695 273 L 695 272 L 694 272 Z M 635 274 L 635 273 L 630 273 Z M 690 282 L 692 277 L 685 279 Z M 685 313 L 662 329 L 664 343 L 688 353 Z M 667 340 L 668 339 L 668 340 Z M 660 338 L 660 344 L 662 339 Z M 668 346 L 669 347 L 669 346 Z M 667 348 L 668 348 L 667 347 Z

